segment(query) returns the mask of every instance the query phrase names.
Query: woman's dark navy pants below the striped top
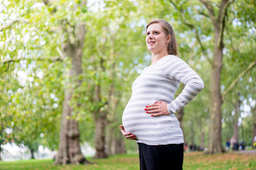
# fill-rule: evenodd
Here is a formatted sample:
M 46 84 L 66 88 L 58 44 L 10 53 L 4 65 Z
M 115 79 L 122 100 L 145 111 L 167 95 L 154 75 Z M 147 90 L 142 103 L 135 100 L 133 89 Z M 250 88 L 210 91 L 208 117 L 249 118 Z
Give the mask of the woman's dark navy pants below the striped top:
M 183 144 L 138 145 L 140 170 L 182 170 Z

